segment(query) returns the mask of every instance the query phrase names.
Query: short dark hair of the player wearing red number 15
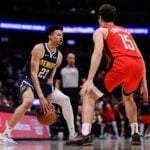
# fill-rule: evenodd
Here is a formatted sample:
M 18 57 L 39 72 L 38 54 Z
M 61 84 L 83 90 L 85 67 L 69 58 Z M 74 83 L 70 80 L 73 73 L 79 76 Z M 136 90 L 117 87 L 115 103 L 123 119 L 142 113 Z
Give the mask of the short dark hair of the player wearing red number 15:
M 98 17 L 100 16 L 106 22 L 114 22 L 117 17 L 117 9 L 113 5 L 103 4 L 98 9 Z

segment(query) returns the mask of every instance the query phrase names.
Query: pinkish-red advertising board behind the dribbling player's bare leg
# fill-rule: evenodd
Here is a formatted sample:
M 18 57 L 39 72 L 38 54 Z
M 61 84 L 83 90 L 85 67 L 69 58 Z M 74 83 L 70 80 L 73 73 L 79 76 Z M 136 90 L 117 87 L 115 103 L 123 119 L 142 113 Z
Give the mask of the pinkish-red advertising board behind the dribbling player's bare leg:
M 0 133 L 2 133 L 12 116 L 11 112 L 0 112 Z M 36 116 L 25 115 L 13 128 L 11 136 L 19 138 L 49 138 L 49 127 L 40 124 Z

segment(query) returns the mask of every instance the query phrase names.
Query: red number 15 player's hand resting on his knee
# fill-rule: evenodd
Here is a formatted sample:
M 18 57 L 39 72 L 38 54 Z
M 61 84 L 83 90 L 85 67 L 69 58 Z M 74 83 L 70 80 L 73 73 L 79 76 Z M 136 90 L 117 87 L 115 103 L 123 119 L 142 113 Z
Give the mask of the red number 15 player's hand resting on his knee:
M 82 86 L 80 90 L 80 95 L 83 96 L 85 94 L 88 94 L 91 91 L 91 87 L 93 85 L 92 81 L 86 81 Z

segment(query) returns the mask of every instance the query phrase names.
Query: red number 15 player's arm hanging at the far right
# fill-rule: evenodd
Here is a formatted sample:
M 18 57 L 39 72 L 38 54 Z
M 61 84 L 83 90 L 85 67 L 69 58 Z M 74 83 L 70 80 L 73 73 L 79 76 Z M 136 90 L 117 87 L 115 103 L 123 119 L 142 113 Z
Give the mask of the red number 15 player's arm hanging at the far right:
M 137 46 L 137 44 L 135 43 L 134 41 L 134 44 L 135 46 L 137 47 L 137 51 L 139 53 L 139 55 L 141 56 L 142 58 L 142 61 L 143 61 L 143 64 L 144 64 L 144 73 L 143 73 L 143 78 L 141 80 L 141 86 L 140 86 L 140 94 L 143 94 L 143 98 L 144 100 L 148 100 L 148 89 L 147 89 L 147 79 L 146 79 L 146 66 L 145 66 L 145 61 L 144 61 L 144 58 Z

